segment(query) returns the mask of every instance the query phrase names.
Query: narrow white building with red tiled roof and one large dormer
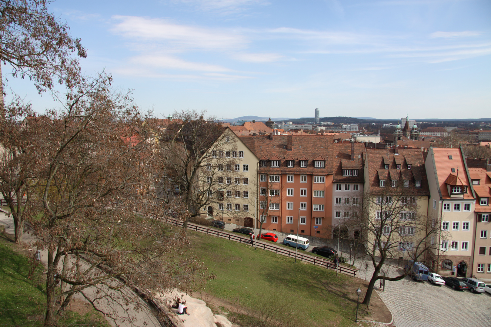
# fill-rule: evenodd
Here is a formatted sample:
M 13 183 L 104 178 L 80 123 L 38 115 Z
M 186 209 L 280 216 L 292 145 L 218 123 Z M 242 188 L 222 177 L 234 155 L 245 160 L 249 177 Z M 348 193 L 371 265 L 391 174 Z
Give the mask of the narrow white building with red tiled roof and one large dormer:
M 462 148 L 430 147 L 425 160 L 430 187 L 428 216 L 441 222 L 432 237 L 438 250 L 427 261 L 442 276 L 470 277 L 475 225 L 475 195 Z

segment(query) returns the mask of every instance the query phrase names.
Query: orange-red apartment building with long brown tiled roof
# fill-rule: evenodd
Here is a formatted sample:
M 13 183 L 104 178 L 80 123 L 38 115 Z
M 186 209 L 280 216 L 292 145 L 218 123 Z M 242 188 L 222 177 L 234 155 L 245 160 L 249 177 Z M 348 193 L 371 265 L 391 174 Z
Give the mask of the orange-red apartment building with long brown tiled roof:
M 263 228 L 331 237 L 331 135 L 239 136 L 259 159 L 258 216 Z

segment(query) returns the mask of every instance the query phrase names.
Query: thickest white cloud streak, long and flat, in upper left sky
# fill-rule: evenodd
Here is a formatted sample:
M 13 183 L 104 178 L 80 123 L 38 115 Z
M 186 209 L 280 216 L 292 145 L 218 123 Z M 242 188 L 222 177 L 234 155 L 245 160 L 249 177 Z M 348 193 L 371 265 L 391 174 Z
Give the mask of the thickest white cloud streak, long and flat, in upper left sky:
M 116 23 L 111 31 L 125 38 L 141 41 L 168 42 L 181 49 L 237 49 L 247 43 L 244 36 L 190 25 L 179 25 L 163 19 L 136 16 L 112 16 Z

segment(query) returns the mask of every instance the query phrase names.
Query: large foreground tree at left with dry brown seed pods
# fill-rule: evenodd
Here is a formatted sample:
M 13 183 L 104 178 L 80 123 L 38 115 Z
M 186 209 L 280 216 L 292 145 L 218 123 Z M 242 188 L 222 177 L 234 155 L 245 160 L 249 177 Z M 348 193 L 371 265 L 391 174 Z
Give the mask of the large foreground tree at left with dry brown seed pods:
M 181 255 L 186 231 L 151 218 L 187 214 L 179 204 L 156 204 L 145 117 L 110 81 L 80 79 L 62 110 L 32 123 L 39 127 L 32 135 L 39 181 L 29 221 L 34 246 L 48 252 L 45 326 L 56 325 L 76 293 L 96 308 L 109 302 L 104 313 L 115 319 L 118 303 L 138 305 L 128 289 L 149 290 L 152 298 L 173 287 L 191 291 L 207 278 L 202 263 Z M 59 282 L 68 286 L 61 293 Z

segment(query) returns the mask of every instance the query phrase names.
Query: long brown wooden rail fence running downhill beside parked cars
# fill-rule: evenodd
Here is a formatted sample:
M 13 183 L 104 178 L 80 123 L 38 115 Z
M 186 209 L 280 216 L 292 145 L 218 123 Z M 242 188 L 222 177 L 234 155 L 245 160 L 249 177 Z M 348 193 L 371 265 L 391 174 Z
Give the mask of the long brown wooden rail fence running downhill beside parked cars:
M 169 224 L 172 224 L 172 225 L 183 226 L 183 223 L 182 222 L 177 221 L 175 219 L 170 219 L 169 218 L 169 219 L 166 219 L 166 221 Z M 239 243 L 247 243 L 247 244 L 250 244 L 250 238 L 241 237 L 239 235 L 226 233 L 226 232 L 220 231 L 218 229 L 206 228 L 205 226 L 199 226 L 199 225 L 190 224 L 190 223 L 188 223 L 188 229 L 199 231 L 199 232 L 202 232 L 202 233 L 206 233 L 208 235 L 213 235 L 213 236 L 217 236 L 217 237 L 226 238 L 228 240 L 236 241 L 236 242 L 239 242 Z M 271 252 L 274 252 L 274 253 L 277 253 L 277 254 L 281 254 L 281 255 L 285 255 L 285 256 L 288 256 L 288 257 L 295 257 L 295 251 L 291 251 L 291 250 L 284 249 L 284 248 L 281 248 L 281 247 L 278 247 L 278 246 L 274 246 L 273 244 L 265 244 L 265 243 L 262 243 L 262 242 L 256 242 L 256 246 L 259 249 L 262 249 L 262 250 L 271 251 Z M 306 254 L 303 254 L 303 253 L 304 252 L 301 252 L 301 250 L 298 251 L 297 252 L 297 259 L 299 259 L 299 260 L 301 260 L 303 262 L 311 263 L 311 264 L 316 265 L 316 266 L 321 266 L 321 267 L 325 267 L 327 269 L 334 269 L 334 270 L 336 270 L 336 265 L 332 261 L 325 260 L 323 258 L 319 258 L 319 257 L 312 256 L 312 255 L 306 255 Z M 347 274 L 347 275 L 351 275 L 353 277 L 356 276 L 356 272 L 357 272 L 356 269 L 345 267 L 343 265 L 339 265 L 337 267 L 337 269 L 341 273 L 344 273 L 344 274 Z

